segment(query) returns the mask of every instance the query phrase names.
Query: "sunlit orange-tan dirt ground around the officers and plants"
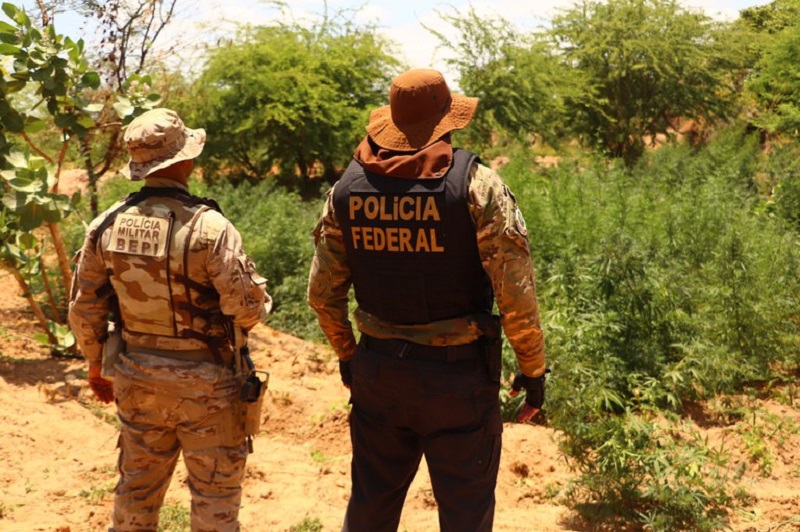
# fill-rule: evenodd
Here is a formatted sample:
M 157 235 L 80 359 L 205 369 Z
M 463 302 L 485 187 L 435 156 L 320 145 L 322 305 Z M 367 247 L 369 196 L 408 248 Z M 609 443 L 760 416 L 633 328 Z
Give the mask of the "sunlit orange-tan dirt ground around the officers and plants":
M 51 357 L 34 340 L 37 332 L 14 278 L 0 270 L 0 530 L 105 530 L 117 479 L 114 407 L 93 398 L 84 361 Z M 350 441 L 348 392 L 332 352 L 266 325 L 254 329 L 251 349 L 271 377 L 262 432 L 248 459 L 243 529 L 320 530 L 301 527 L 318 523 L 321 530 L 339 530 L 350 488 Z M 732 530 L 800 530 L 800 407 L 789 397 L 760 405 L 759 419 L 769 420 L 761 432 L 748 430 L 751 420 L 715 424 L 702 410 L 696 416 L 705 419 L 709 439 L 725 442 L 744 467 L 741 485 L 752 505 L 732 515 Z M 572 473 L 556 437 L 540 426 L 505 426 L 495 530 L 591 530 L 559 503 Z M 753 463 L 756 451 L 766 457 L 759 463 Z M 180 514 L 188 505 L 179 464 L 165 506 Z M 438 530 L 424 462 L 400 530 Z

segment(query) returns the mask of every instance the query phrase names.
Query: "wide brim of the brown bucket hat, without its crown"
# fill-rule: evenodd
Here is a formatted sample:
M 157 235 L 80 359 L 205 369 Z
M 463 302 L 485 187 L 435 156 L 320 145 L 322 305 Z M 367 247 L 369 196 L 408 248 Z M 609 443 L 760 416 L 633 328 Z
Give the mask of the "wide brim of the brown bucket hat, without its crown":
M 381 148 L 418 151 L 451 131 L 467 127 L 475 117 L 477 108 L 477 98 L 453 94 L 450 106 L 441 115 L 422 122 L 398 125 L 392 121 L 391 108 L 386 105 L 375 109 L 370 115 L 367 134 Z

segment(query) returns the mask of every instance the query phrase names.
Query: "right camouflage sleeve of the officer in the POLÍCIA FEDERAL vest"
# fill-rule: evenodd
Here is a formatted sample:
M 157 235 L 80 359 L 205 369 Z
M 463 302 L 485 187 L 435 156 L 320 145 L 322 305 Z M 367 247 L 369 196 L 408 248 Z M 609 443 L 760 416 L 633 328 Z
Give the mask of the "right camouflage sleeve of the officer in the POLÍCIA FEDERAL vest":
M 544 335 L 525 220 L 514 195 L 497 173 L 476 165 L 471 177 L 470 212 L 478 251 L 494 288 L 503 331 L 520 370 L 537 377 L 545 370 Z

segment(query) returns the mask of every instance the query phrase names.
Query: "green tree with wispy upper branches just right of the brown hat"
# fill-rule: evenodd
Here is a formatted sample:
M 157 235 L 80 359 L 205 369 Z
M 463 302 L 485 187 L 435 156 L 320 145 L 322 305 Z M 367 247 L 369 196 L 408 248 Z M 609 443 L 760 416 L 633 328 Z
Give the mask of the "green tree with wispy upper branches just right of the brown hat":
M 455 52 L 447 63 L 459 73 L 458 85 L 479 98 L 478 113 L 461 135 L 486 146 L 504 131 L 530 143 L 534 134 L 554 143 L 562 123 L 563 98 L 572 90 L 571 72 L 559 65 L 539 35 L 524 35 L 502 17 L 439 13 L 455 39 L 428 27 L 440 46 Z

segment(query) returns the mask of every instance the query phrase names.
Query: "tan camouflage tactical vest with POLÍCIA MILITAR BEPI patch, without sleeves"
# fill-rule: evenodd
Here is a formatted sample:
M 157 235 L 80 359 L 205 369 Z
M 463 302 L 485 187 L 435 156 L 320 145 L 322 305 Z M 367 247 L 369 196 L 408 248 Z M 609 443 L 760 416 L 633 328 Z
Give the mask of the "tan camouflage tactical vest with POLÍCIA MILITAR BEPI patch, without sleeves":
M 147 202 L 157 197 L 157 203 Z M 212 351 L 226 338 L 219 294 L 191 279 L 189 249 L 200 216 L 219 205 L 179 188 L 142 187 L 100 223 L 92 243 L 105 262 L 128 332 L 190 338 Z M 106 237 L 104 238 L 104 233 Z

